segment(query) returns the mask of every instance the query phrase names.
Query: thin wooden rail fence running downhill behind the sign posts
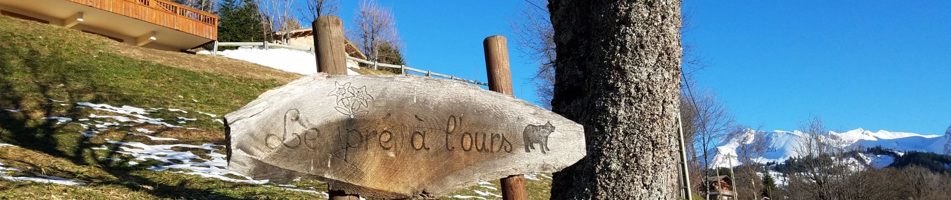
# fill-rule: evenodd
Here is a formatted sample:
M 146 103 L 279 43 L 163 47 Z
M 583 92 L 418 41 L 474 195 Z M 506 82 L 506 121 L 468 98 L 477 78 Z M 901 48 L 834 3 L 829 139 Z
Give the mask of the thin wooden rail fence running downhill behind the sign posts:
M 246 46 L 246 45 L 250 45 L 250 46 L 264 46 L 264 49 L 268 49 L 268 48 L 270 48 L 270 47 L 288 48 L 288 49 L 309 51 L 311 54 L 314 54 L 314 47 L 302 47 L 302 46 L 294 46 L 294 45 L 281 45 L 281 44 L 274 44 L 274 43 L 268 43 L 268 42 L 242 42 L 242 43 L 230 43 L 230 42 L 229 42 L 229 43 L 220 43 L 220 42 L 218 42 L 218 41 L 215 41 L 215 43 L 214 43 L 214 49 L 212 49 L 211 54 L 212 54 L 212 55 L 218 55 L 218 46 Z M 407 65 L 379 64 L 379 63 L 376 63 L 376 62 L 371 62 L 371 61 L 367 61 L 367 60 L 362 60 L 362 59 L 354 58 L 354 57 L 351 57 L 351 56 L 347 56 L 347 60 L 351 60 L 351 61 L 354 61 L 354 62 L 357 62 L 357 63 L 360 63 L 360 64 L 371 64 L 371 65 L 375 65 L 375 66 L 398 68 L 399 71 L 402 72 L 402 74 L 406 74 L 406 71 L 412 71 L 412 72 L 417 72 L 417 73 L 420 73 L 420 74 L 424 74 L 424 75 L 426 75 L 427 77 L 441 77 L 441 78 L 446 78 L 446 79 L 449 79 L 449 80 L 454 80 L 454 81 L 459 81 L 459 82 L 468 82 L 468 83 L 473 83 L 473 84 L 477 84 L 477 85 L 486 85 L 486 86 L 489 85 L 489 83 L 486 83 L 486 82 L 478 82 L 478 81 L 472 81 L 472 80 L 457 78 L 456 76 L 439 74 L 439 73 L 435 73 L 435 72 L 429 71 L 429 70 L 422 70 L 422 69 L 417 69 L 417 68 L 409 67 L 409 66 L 407 66 Z M 314 67 L 317 67 L 317 66 L 314 66 Z M 406 74 L 406 75 L 408 75 L 408 74 Z

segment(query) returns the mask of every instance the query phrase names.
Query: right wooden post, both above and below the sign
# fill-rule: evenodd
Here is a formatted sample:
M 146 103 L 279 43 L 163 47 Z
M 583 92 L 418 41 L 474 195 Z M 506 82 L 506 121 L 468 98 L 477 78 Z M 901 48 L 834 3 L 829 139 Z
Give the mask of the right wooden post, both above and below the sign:
M 512 92 L 512 72 L 509 70 L 509 48 L 505 36 L 489 36 L 482 41 L 485 48 L 485 68 L 489 75 L 489 90 L 514 96 Z M 509 175 L 499 180 L 502 185 L 502 199 L 526 200 L 525 175 Z

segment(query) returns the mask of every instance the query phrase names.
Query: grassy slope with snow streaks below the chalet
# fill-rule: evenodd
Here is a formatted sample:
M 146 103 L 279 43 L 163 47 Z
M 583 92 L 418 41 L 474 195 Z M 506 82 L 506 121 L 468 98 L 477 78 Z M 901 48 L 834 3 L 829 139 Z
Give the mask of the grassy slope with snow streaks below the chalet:
M 127 156 L 121 161 L 98 159 L 110 153 L 89 149 L 103 145 L 117 148 L 107 144 L 107 138 L 155 143 L 129 137 L 126 132 L 163 127 L 135 125 L 84 137 L 77 133 L 85 131 L 82 127 L 43 119 L 108 115 L 74 107 L 74 103 L 86 101 L 221 115 L 300 77 L 258 64 L 140 48 L 73 29 L 0 16 L 0 110 L 23 110 L 0 111 L 0 142 L 19 146 L 0 148 L 0 163 L 24 170 L 21 175 L 46 174 L 86 183 L 84 187 L 72 187 L 0 179 L 0 199 L 323 199 L 314 193 L 153 172 L 123 164 L 130 160 Z M 172 129 L 155 135 L 181 139 L 174 143 L 224 143 L 221 124 L 208 116 L 159 112 L 149 117 L 199 118 L 188 126 L 201 130 Z M 547 199 L 550 183 L 546 179 L 529 181 L 530 196 Z M 318 191 L 326 187 L 313 180 L 292 184 Z M 497 187 L 497 180 L 494 185 Z M 478 196 L 472 190 L 454 194 Z

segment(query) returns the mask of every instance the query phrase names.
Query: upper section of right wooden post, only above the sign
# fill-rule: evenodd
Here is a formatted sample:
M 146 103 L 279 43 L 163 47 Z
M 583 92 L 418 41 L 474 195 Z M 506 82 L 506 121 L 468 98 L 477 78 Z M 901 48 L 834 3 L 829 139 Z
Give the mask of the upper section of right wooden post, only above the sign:
M 512 74 L 509 71 L 509 48 L 505 36 L 490 36 L 482 41 L 482 45 L 485 48 L 485 66 L 489 76 L 489 90 L 513 95 Z

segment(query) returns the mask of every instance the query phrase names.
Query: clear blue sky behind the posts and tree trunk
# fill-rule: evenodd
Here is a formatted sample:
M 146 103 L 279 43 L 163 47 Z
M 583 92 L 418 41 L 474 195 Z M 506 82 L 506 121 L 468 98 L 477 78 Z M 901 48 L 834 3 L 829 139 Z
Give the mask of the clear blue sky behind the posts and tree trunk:
M 341 0 L 352 24 L 359 1 Z M 409 65 L 485 82 L 482 40 L 509 38 L 515 96 L 537 98 L 535 64 L 510 21 L 524 1 L 380 0 L 396 16 Z M 793 130 L 820 115 L 832 130 L 941 135 L 951 125 L 949 1 L 685 1 L 683 40 L 697 75 L 740 123 Z

